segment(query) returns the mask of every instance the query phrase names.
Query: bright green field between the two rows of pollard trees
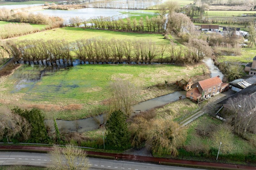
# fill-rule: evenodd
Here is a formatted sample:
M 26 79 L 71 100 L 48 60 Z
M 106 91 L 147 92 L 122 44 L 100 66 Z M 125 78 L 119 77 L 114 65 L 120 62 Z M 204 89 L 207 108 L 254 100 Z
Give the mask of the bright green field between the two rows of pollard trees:
M 119 32 L 111 30 L 96 30 L 96 29 L 83 29 L 75 27 L 63 27 L 39 32 L 35 34 L 17 37 L 17 39 L 43 39 L 46 40 L 66 40 L 67 42 L 74 42 L 79 39 L 88 38 L 106 38 L 106 39 L 137 39 L 137 40 L 152 40 L 156 43 L 169 43 L 169 40 L 163 39 L 161 34 L 139 34 L 132 32 Z

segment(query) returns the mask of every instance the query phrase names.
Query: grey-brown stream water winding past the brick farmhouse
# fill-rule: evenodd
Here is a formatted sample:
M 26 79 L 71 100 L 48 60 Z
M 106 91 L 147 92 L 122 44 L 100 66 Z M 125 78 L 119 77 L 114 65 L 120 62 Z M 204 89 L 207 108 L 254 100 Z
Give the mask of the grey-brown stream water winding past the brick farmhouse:
M 216 77 L 218 75 L 220 76 L 221 79 L 224 77 L 224 75 L 220 72 L 219 68 L 214 65 L 214 62 L 211 58 L 205 58 L 203 62 L 209 68 L 211 77 Z M 140 111 L 143 112 L 149 109 L 153 109 L 155 107 L 159 107 L 165 104 L 175 102 L 179 100 L 179 96 L 182 96 L 182 99 L 186 98 L 186 91 L 176 91 L 168 95 L 164 95 L 164 96 L 156 97 L 144 102 L 140 102 L 133 106 L 133 110 L 134 110 L 133 114 L 139 113 Z M 106 115 L 101 114 L 99 116 L 95 116 L 94 118 L 90 117 L 90 118 L 79 119 L 79 120 L 56 120 L 56 122 L 61 131 L 82 133 L 82 132 L 99 128 L 99 124 L 95 119 L 100 121 L 100 123 L 103 123 L 104 120 L 106 120 Z M 53 120 L 45 120 L 45 123 L 46 124 L 50 123 L 53 125 Z

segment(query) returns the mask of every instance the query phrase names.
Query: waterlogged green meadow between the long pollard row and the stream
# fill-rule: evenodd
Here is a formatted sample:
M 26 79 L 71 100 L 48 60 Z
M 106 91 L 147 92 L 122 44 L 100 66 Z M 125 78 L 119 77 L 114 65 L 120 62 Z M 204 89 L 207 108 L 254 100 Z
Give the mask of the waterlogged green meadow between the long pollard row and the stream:
M 137 99 L 140 102 L 176 91 L 176 86 L 165 87 L 164 81 L 173 83 L 182 78 L 200 76 L 198 66 L 200 64 L 193 67 L 81 65 L 47 70 L 24 65 L 1 80 L 0 95 L 4 99 L 2 102 L 10 108 L 19 103 L 23 108 L 42 108 L 49 118 L 81 119 L 90 117 L 95 108 L 106 107 L 104 101 L 109 97 L 109 83 L 116 78 L 135 84 L 140 89 Z M 76 108 L 80 110 L 63 109 L 67 104 L 78 104 Z

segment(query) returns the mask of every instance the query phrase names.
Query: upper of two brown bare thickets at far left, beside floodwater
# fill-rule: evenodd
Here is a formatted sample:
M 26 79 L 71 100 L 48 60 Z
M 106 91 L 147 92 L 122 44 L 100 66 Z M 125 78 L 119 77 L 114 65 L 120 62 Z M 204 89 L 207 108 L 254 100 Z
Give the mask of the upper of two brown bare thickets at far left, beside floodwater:
M 63 21 L 59 17 L 49 17 L 40 13 L 13 12 L 5 8 L 0 9 L 0 20 L 8 22 L 23 22 L 32 24 L 52 24 Z

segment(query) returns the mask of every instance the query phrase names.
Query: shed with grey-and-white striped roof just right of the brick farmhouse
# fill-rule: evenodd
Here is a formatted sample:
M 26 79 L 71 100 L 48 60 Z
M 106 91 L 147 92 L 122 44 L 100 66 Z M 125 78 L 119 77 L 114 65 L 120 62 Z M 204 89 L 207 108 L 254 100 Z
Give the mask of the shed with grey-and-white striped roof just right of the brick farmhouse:
M 232 85 L 231 89 L 236 92 L 241 91 L 242 89 L 245 89 L 255 83 L 256 76 L 252 76 L 248 79 L 236 79 L 234 81 L 229 82 L 229 84 Z

